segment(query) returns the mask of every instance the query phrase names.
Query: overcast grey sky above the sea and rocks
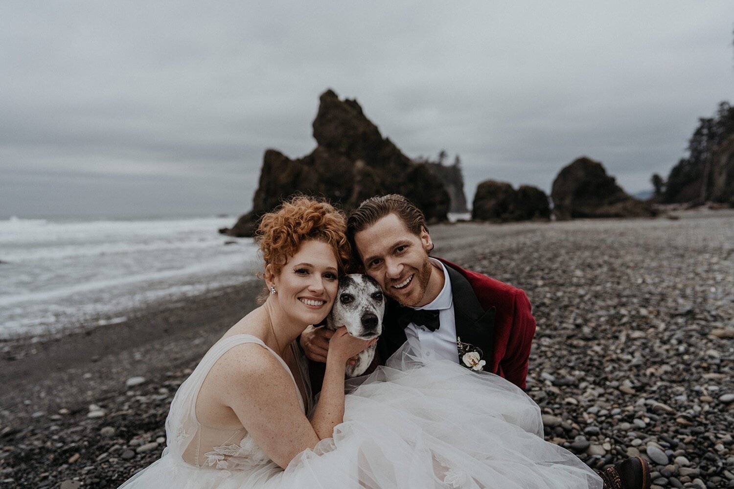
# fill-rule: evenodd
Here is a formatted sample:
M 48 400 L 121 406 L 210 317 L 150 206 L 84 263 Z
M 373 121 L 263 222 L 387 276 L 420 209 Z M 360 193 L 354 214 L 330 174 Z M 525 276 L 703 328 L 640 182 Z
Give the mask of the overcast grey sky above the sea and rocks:
M 734 102 L 732 1 L 4 1 L 0 216 L 244 213 L 332 88 L 407 155 L 625 190 Z

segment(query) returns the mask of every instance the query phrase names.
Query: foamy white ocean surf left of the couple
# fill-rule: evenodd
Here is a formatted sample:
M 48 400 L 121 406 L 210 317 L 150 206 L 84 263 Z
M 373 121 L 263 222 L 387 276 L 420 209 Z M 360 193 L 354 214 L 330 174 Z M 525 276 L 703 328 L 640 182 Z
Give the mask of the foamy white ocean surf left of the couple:
M 114 327 L 130 309 L 255 279 L 252 238 L 217 232 L 235 221 L 0 221 L 0 339 Z

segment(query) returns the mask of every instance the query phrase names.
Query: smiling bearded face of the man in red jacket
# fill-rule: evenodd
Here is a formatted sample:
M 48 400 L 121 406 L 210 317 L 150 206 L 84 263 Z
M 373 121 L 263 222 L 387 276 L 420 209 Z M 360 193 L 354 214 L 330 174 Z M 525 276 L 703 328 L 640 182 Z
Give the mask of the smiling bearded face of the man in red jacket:
M 385 294 L 404 306 L 428 304 L 434 267 L 428 258 L 433 248 L 425 229 L 410 232 L 396 214 L 388 214 L 355 234 L 355 244 L 366 273 L 377 280 Z

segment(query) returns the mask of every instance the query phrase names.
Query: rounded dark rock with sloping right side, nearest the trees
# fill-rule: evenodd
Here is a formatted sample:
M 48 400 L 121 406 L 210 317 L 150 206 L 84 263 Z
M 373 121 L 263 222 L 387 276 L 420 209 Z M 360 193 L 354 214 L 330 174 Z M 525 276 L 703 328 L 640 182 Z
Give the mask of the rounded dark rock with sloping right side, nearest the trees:
M 652 205 L 627 194 L 601 163 L 585 156 L 559 172 L 551 199 L 559 220 L 655 216 Z

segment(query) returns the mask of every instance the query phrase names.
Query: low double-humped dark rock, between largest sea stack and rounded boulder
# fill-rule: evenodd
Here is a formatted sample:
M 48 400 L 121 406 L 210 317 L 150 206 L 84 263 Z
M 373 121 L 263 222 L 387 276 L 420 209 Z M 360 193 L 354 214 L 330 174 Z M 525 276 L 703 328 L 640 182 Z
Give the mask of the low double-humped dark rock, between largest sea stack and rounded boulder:
M 476 188 L 471 218 L 475 221 L 548 221 L 551 208 L 545 192 L 530 185 L 515 190 L 506 182 L 485 180 Z

